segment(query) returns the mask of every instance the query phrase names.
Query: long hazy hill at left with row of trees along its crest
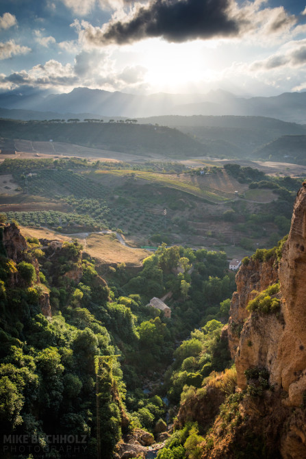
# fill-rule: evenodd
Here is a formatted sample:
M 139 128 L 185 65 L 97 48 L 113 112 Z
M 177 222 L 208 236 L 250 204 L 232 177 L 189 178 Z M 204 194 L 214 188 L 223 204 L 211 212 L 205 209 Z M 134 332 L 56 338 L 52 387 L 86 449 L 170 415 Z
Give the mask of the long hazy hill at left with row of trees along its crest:
M 201 156 L 205 147 L 177 129 L 127 123 L 51 123 L 0 120 L 1 136 L 12 139 L 50 139 L 105 150 L 160 153 L 181 158 Z

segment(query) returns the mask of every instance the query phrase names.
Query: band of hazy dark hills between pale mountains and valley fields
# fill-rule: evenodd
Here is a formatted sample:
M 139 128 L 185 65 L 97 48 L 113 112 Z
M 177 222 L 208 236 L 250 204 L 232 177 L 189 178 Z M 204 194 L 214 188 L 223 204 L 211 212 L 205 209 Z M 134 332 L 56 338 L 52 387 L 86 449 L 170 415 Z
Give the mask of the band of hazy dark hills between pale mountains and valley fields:
M 11 114 L 10 110 L 7 112 L 8 115 Z M 42 120 L 48 118 L 60 120 L 58 118 L 60 114 L 56 113 L 23 110 L 12 110 L 12 112 L 24 114 L 27 119 L 36 117 Z M 65 116 L 67 118 L 68 114 Z M 71 117 L 74 119 L 75 116 L 71 115 L 70 119 Z M 77 117 L 81 120 L 99 119 L 99 115 L 84 113 Z M 61 139 L 58 141 L 126 153 L 139 154 L 141 149 L 143 154 L 160 153 L 174 156 L 177 150 L 179 155 L 183 152 L 186 156 L 196 156 L 200 151 L 206 156 L 245 159 L 266 158 L 257 155 L 257 151 L 266 144 L 282 136 L 303 136 L 306 133 L 304 125 L 286 123 L 264 116 L 151 116 L 138 119 L 137 125 L 141 125 L 142 128 L 123 119 L 113 119 L 111 123 L 109 121 L 109 117 L 106 117 L 104 123 L 77 123 L 75 127 L 71 123 L 31 121 L 24 125 L 18 121 L 2 120 L 0 127 L 3 129 L 3 136 L 12 136 L 16 133 L 15 138 L 18 135 L 22 139 L 47 140 L 47 142 L 50 137 L 55 141 Z M 180 133 L 186 134 L 188 140 Z M 164 149 L 160 145 L 162 143 Z M 290 156 L 299 158 L 299 152 L 295 153 L 297 145 L 292 144 L 290 147 L 292 148 Z M 285 148 L 284 146 L 284 151 Z M 52 147 L 49 149 L 51 153 L 54 150 Z M 283 154 L 289 153 L 285 151 Z M 281 156 L 278 159 L 283 161 Z

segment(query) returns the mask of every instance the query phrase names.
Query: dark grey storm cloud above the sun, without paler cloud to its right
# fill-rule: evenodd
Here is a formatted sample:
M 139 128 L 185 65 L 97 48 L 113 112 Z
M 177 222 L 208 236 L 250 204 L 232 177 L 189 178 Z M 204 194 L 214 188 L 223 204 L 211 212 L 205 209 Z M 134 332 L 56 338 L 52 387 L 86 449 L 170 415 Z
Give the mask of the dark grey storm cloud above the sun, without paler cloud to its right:
M 230 0 L 153 0 L 126 22 L 110 23 L 99 33 L 97 29 L 86 29 L 86 38 L 96 45 L 121 45 L 150 37 L 183 42 L 236 36 L 240 26 L 229 16 L 230 6 Z

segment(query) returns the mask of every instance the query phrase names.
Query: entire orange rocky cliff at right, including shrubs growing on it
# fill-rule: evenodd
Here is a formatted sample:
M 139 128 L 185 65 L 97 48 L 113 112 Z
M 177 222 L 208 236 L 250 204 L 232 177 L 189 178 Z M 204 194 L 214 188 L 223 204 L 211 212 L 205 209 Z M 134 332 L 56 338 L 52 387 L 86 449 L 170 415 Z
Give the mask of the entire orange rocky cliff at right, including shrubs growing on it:
M 237 274 L 228 334 L 240 404 L 234 427 L 220 428 L 224 419 L 217 417 L 203 458 L 238 457 L 237 445 L 244 451 L 239 457 L 306 458 L 305 186 L 298 191 L 290 234 L 278 256 L 263 251 Z M 253 299 L 257 307 L 250 308 Z

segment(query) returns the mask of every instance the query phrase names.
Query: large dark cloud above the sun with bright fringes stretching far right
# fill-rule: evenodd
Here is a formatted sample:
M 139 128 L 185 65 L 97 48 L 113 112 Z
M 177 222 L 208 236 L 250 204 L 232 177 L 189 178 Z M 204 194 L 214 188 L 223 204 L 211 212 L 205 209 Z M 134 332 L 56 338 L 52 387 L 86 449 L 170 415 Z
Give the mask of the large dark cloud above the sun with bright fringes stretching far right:
M 296 24 L 296 16 L 283 7 L 262 8 L 264 3 L 266 0 L 246 1 L 239 7 L 235 0 L 151 0 L 145 5 L 135 3 L 129 12 L 120 10 L 120 16 L 115 12 L 102 27 L 82 21 L 78 32 L 92 45 L 103 46 L 155 37 L 179 43 L 259 32 L 276 35 Z

